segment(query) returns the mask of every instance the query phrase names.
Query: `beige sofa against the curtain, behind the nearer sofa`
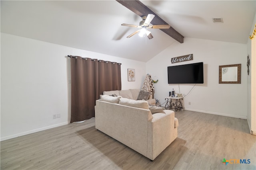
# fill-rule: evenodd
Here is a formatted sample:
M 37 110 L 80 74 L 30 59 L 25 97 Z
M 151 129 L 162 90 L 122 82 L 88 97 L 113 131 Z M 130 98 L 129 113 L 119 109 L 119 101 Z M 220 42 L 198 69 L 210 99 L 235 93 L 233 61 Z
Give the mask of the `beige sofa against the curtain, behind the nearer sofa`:
M 115 94 L 116 96 L 122 96 L 122 98 L 137 100 L 138 96 L 140 94 L 140 91 L 141 91 L 140 89 L 113 90 L 113 91 L 104 91 L 103 95 L 114 95 Z M 142 94 L 142 95 L 144 95 L 144 94 Z M 144 96 L 146 96 L 146 95 L 144 95 Z M 140 97 L 143 98 L 144 96 L 140 96 Z M 148 96 L 150 96 L 150 95 L 148 95 Z M 160 104 L 156 104 L 156 99 L 144 98 L 144 100 L 146 100 L 150 106 L 156 106 L 156 105 L 160 106 Z

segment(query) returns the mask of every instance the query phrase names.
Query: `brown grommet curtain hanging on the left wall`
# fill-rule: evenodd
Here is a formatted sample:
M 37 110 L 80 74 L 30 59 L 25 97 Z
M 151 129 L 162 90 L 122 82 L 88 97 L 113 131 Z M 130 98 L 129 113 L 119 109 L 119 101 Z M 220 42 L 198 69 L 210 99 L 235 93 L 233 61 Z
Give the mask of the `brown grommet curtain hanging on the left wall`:
M 71 59 L 71 121 L 94 117 L 94 106 L 104 91 L 121 90 L 121 64 L 69 56 Z

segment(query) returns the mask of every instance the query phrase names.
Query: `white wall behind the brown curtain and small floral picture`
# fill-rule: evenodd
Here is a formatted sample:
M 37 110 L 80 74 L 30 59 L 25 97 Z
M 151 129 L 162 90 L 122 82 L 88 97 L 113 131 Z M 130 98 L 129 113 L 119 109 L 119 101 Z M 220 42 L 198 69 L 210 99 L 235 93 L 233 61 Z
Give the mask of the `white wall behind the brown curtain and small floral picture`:
M 146 75 L 143 62 L 1 33 L 1 141 L 69 122 L 67 55 L 122 63 L 123 90 L 141 88 Z M 127 68 L 135 69 L 135 82 Z

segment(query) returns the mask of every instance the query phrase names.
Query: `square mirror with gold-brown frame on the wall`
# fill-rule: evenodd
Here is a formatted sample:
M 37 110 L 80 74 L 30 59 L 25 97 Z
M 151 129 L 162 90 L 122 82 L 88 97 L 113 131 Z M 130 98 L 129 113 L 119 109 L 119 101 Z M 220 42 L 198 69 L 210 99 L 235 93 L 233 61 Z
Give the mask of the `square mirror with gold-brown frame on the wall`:
M 219 84 L 241 84 L 241 64 L 219 66 Z

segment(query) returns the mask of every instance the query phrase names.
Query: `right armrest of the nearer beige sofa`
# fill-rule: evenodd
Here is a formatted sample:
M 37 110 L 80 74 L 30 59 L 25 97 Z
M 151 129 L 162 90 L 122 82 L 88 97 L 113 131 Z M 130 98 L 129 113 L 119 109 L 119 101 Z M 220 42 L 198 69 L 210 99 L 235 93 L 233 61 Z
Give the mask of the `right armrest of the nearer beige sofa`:
M 164 110 L 153 114 L 148 121 L 148 156 L 154 160 L 172 142 L 174 111 Z

